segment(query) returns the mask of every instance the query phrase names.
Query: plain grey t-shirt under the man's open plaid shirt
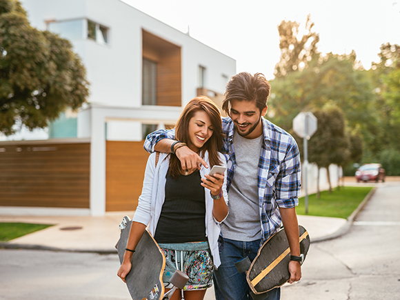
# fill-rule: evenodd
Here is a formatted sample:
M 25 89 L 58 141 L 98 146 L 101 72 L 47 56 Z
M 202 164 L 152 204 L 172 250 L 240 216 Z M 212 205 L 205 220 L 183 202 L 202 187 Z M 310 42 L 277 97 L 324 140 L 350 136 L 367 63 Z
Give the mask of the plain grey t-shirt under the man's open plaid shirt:
M 261 238 L 257 173 L 263 134 L 256 139 L 245 139 L 236 131 L 233 147 L 236 169 L 229 190 L 229 214 L 221 231 L 224 238 L 235 241 L 255 241 Z

